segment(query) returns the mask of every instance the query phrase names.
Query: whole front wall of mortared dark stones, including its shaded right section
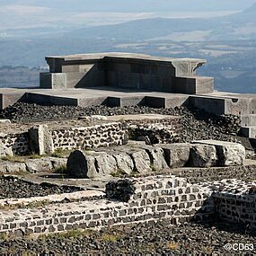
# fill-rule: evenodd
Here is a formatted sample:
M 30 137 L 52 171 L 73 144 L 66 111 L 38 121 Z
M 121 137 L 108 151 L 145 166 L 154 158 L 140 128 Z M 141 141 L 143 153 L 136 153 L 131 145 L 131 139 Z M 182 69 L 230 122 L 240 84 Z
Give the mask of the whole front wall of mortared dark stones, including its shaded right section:
M 190 184 L 171 175 L 110 181 L 107 199 L 0 210 L 0 234 L 48 234 L 161 219 L 179 225 L 211 216 L 255 228 L 255 186 L 237 180 Z

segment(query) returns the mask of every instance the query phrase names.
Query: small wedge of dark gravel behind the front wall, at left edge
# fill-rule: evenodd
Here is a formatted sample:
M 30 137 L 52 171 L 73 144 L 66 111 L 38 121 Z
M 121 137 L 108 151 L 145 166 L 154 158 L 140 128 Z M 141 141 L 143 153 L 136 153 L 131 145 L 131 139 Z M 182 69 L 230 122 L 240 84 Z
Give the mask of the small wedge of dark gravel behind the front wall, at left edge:
M 71 193 L 81 189 L 49 183 L 35 184 L 15 177 L 0 177 L 0 199 L 44 197 L 52 194 Z

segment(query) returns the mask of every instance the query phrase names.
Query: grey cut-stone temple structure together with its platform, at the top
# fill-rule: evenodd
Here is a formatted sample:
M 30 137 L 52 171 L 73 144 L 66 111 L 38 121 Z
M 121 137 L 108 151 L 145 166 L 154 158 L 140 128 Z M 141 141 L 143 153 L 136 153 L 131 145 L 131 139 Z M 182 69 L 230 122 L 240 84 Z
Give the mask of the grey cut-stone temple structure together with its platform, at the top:
M 256 96 L 216 92 L 213 77 L 196 75 L 205 59 L 99 53 L 46 61 L 49 72 L 40 74 L 40 88 L 1 89 L 0 109 L 18 101 L 82 107 L 191 105 L 216 115 L 242 116 L 244 135 L 256 136 Z

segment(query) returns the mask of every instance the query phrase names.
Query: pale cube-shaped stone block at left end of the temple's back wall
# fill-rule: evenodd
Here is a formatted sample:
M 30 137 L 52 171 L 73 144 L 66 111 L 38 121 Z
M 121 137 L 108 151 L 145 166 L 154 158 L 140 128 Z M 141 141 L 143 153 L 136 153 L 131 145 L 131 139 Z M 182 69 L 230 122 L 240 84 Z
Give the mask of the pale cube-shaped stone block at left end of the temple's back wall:
M 40 73 L 40 88 L 65 89 L 66 73 Z

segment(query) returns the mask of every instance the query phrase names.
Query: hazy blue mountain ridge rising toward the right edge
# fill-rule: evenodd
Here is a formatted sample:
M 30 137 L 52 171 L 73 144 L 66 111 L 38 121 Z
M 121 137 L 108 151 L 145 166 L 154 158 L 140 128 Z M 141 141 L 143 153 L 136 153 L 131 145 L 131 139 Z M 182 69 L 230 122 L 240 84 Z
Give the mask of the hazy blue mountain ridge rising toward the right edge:
M 248 27 L 248 23 L 250 26 Z M 252 34 L 251 34 L 251 31 Z M 84 39 L 149 40 L 175 32 L 210 31 L 204 40 L 256 39 L 256 4 L 241 13 L 208 19 L 145 19 L 116 25 L 70 31 L 66 36 Z M 65 36 L 65 37 L 66 37 Z M 172 39 L 172 37 L 170 37 Z

